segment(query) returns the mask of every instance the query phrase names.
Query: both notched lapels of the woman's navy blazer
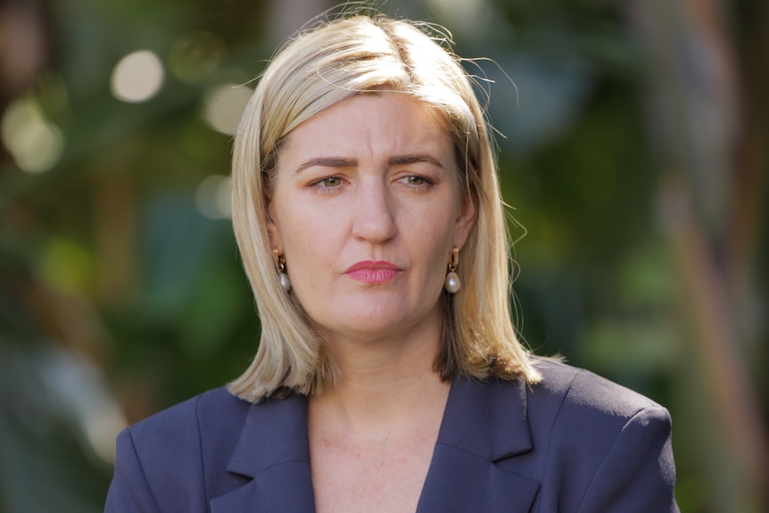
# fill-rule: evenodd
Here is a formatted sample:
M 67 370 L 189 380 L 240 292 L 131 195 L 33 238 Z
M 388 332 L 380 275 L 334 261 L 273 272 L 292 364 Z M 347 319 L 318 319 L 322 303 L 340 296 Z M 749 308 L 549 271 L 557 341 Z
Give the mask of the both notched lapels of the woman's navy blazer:
M 539 483 L 497 465 L 532 450 L 525 397 L 523 383 L 454 380 L 418 513 L 529 511 Z M 211 513 L 314 511 L 307 398 L 252 406 L 227 471 L 252 481 L 211 501 Z

